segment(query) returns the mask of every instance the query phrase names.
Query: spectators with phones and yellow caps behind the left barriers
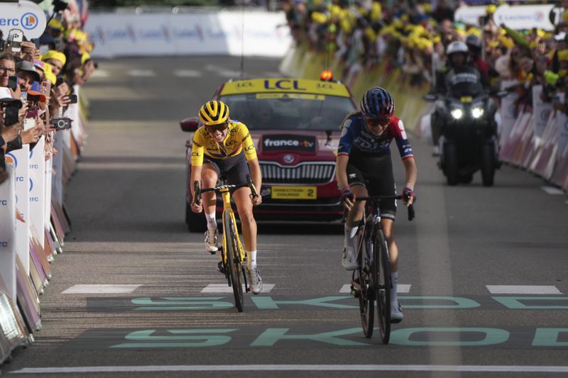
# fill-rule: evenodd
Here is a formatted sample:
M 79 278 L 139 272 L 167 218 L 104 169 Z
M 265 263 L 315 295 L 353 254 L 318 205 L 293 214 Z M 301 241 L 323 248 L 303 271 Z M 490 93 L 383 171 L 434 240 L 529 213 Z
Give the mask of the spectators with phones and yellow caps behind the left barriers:
M 6 153 L 23 145 L 33 149 L 42 136 L 45 159 L 57 153 L 54 133 L 69 128 L 65 110 L 77 101 L 75 88 L 95 70 L 89 55 L 93 45 L 82 30 L 87 2 L 53 4 L 46 11 L 48 24 L 40 38 L 24 36 L 18 43 L 0 32 L 0 184 L 7 178 Z

